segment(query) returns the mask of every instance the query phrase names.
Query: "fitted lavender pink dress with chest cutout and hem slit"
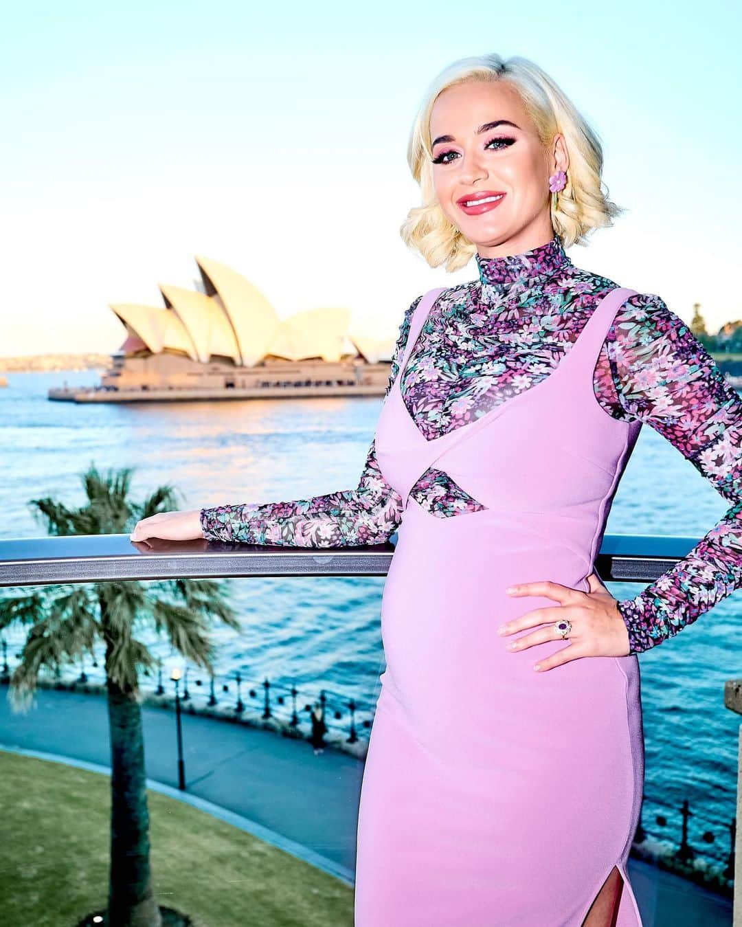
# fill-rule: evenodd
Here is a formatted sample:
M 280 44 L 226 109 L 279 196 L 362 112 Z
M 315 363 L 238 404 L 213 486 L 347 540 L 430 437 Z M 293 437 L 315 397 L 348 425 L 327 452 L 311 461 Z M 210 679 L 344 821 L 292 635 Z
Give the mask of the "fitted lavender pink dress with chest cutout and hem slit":
M 421 299 L 409 346 L 439 292 Z M 597 405 L 593 370 L 633 292 L 603 298 L 546 379 L 440 438 L 421 435 L 398 388 L 384 402 L 377 458 L 406 508 L 382 602 L 356 927 L 578 927 L 613 866 L 618 923 L 641 922 L 626 874 L 644 776 L 637 658 L 537 673 L 569 641 L 510 654 L 496 632 L 554 605 L 509 597 L 511 583 L 589 588 L 641 426 Z M 428 514 L 409 490 L 433 465 L 484 507 Z

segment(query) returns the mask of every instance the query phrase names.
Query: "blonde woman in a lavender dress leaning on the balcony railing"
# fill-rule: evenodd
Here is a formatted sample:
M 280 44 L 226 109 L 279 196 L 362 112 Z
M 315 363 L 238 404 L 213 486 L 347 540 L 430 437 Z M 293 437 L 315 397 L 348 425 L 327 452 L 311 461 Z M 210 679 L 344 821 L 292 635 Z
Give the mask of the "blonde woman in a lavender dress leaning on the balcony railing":
M 636 654 L 742 582 L 742 400 L 659 297 L 567 257 L 620 210 L 596 134 L 533 62 L 446 68 L 408 157 L 422 205 L 404 240 L 478 273 L 405 313 L 358 487 L 155 515 L 132 537 L 330 547 L 398 530 L 356 927 L 635 927 Z M 617 602 L 593 566 L 645 423 L 731 508 Z

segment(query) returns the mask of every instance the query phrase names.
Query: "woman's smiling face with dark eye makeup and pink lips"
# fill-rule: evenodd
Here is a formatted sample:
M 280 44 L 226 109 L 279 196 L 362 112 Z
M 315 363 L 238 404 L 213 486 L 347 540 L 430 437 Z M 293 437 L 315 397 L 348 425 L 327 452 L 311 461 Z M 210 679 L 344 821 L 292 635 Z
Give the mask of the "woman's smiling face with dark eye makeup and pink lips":
M 546 148 L 521 96 L 504 81 L 448 87 L 430 119 L 435 196 L 482 257 L 545 245 L 554 235 L 548 178 L 566 171 L 562 135 Z M 466 200 L 500 197 L 472 209 Z

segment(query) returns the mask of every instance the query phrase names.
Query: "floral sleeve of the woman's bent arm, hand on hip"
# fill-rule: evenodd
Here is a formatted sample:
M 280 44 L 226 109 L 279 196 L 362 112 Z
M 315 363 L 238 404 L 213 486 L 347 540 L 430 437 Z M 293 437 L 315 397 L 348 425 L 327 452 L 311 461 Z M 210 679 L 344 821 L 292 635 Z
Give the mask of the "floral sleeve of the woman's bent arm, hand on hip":
M 688 326 L 657 296 L 638 294 L 607 340 L 629 418 L 673 444 L 730 507 L 692 551 L 634 599 L 618 603 L 630 654 L 673 637 L 742 586 L 742 399 Z

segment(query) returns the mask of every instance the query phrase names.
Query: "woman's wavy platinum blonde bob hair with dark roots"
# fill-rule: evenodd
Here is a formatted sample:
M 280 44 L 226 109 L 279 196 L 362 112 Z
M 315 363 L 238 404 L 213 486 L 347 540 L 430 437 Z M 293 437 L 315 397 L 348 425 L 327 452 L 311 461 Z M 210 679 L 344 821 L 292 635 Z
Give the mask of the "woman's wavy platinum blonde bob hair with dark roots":
M 507 81 L 520 93 L 544 146 L 562 133 L 569 154 L 567 185 L 559 197 L 551 197 L 551 224 L 562 245 L 585 245 L 594 228 L 612 225 L 623 209 L 611 203 L 601 180 L 603 150 L 597 134 L 572 106 L 570 100 L 528 58 L 481 55 L 459 58 L 430 84 L 409 135 L 407 159 L 412 176 L 420 184 L 422 206 L 409 210 L 399 233 L 405 244 L 421 253 L 431 267 L 445 264 L 446 271 L 464 267 L 476 252 L 459 229 L 447 219 L 435 198 L 430 117 L 436 97 L 447 87 L 472 81 Z

